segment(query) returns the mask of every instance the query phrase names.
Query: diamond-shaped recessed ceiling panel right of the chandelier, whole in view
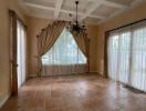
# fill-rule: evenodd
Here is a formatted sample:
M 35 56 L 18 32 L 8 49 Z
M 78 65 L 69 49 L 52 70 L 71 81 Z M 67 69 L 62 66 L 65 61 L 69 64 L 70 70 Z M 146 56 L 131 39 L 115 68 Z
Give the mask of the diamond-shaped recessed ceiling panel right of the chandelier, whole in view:
M 95 9 L 95 11 L 92 12 L 92 14 L 102 16 L 102 17 L 109 17 L 111 14 L 116 12 L 117 10 L 119 10 L 119 9 L 118 8 L 108 7 L 108 6 L 105 6 L 105 4 L 101 4 L 100 7 L 97 7 Z

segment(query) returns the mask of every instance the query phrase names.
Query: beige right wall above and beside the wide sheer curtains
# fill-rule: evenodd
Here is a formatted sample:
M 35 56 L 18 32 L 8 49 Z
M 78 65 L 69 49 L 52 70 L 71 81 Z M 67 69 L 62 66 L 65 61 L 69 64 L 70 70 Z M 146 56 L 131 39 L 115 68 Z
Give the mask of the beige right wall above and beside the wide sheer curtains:
M 108 31 L 114 28 L 122 27 L 124 24 L 146 19 L 146 2 L 143 2 L 142 4 L 135 7 L 132 10 L 128 10 L 124 12 L 121 16 L 117 16 L 115 18 L 112 18 L 107 20 L 106 22 L 103 22 L 98 26 L 97 31 L 97 58 L 96 58 L 96 67 L 97 71 L 103 74 L 103 63 L 104 60 L 104 36 L 105 31 Z

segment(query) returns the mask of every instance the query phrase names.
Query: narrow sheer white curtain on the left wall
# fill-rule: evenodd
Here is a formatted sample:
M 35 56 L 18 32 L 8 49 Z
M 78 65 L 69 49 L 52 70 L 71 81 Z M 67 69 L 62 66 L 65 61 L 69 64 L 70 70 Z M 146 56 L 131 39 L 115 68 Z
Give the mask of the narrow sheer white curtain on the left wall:
M 17 21 L 17 34 L 18 34 L 18 88 L 20 88 L 25 81 L 25 30 L 21 22 Z

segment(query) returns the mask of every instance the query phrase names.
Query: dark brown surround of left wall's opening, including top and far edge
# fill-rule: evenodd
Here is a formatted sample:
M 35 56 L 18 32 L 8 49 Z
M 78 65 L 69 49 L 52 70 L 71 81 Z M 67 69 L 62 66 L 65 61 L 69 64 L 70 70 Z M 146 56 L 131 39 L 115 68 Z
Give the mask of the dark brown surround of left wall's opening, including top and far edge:
M 18 20 L 24 27 L 27 31 L 27 26 L 24 22 L 19 18 L 19 16 L 9 9 L 9 20 L 10 20 L 10 87 L 11 87 L 11 94 L 18 94 Z M 27 33 L 25 33 L 27 36 Z M 25 40 L 27 41 L 27 40 Z M 25 44 L 25 52 L 27 52 L 27 44 Z M 25 68 L 27 68 L 27 58 L 25 58 Z M 25 69 L 27 71 L 27 69 Z

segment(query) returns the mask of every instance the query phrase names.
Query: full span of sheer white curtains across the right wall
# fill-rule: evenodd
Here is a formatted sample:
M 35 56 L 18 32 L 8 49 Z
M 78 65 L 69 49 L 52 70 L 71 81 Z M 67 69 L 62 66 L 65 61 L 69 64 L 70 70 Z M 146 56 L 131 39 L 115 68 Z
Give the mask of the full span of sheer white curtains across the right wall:
M 109 33 L 108 77 L 146 91 L 146 22 Z

